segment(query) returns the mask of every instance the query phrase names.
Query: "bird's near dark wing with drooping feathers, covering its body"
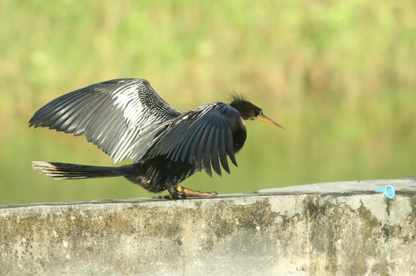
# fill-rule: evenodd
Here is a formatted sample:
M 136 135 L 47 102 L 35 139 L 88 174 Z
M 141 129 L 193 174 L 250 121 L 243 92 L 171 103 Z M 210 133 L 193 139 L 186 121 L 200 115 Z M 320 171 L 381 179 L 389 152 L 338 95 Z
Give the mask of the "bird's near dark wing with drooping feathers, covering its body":
M 188 111 L 167 127 L 146 157 L 166 155 L 175 161 L 187 160 L 198 170 L 203 167 L 209 176 L 211 165 L 221 175 L 221 163 L 229 173 L 227 156 L 237 165 L 230 120 L 240 120 L 239 111 L 220 102 Z

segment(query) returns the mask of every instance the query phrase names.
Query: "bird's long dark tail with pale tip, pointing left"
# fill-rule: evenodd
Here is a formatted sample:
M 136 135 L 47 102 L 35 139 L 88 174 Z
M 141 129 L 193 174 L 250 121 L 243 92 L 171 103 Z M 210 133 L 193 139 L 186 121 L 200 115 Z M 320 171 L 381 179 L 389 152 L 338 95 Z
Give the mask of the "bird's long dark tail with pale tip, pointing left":
M 101 178 L 125 175 L 123 167 L 99 167 L 44 161 L 34 161 L 32 167 L 55 179 Z

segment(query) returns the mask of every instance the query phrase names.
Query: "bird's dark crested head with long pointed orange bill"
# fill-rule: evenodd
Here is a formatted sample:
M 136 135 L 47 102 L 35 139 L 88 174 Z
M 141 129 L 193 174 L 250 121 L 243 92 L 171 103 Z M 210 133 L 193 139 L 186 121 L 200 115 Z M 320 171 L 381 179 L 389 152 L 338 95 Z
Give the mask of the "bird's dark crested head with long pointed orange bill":
M 244 120 L 262 120 L 269 125 L 281 127 L 277 122 L 265 116 L 260 107 L 255 106 L 241 95 L 232 95 L 232 102 L 229 105 L 238 110 Z

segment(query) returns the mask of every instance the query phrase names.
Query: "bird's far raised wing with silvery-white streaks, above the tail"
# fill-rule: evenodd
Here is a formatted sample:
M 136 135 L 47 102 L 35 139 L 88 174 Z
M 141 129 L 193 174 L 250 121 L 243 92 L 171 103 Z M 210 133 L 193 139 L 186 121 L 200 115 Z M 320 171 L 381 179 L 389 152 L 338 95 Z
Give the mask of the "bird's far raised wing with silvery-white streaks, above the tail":
M 38 110 L 29 126 L 84 134 L 116 163 L 143 155 L 155 134 L 180 114 L 147 80 L 119 79 L 62 95 Z

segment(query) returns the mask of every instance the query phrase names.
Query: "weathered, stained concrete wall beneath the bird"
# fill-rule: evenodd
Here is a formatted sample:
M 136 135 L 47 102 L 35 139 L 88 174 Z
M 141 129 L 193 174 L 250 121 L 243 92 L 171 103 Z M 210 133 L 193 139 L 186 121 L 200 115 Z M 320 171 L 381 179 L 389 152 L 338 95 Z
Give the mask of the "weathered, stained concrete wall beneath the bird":
M 415 179 L 3 205 L 0 274 L 416 275 L 415 236 Z

